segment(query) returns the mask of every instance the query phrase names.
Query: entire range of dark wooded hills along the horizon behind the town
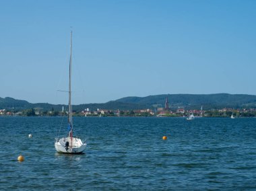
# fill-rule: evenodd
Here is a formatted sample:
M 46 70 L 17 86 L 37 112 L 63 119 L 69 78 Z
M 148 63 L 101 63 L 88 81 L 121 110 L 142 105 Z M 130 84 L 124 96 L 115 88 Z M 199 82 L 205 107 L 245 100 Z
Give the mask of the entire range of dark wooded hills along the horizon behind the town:
M 80 104 L 73 106 L 73 110 L 82 111 L 86 108 L 90 110 L 108 109 L 108 110 L 137 110 L 154 109 L 164 107 L 164 102 L 168 97 L 169 106 L 172 109 L 185 107 L 185 109 L 218 109 L 218 108 L 256 108 L 256 95 L 246 94 L 162 94 L 149 95 L 146 97 L 127 97 L 119 100 L 106 102 L 104 104 Z M 36 108 L 37 110 L 61 110 L 65 105 L 54 105 L 48 103 L 31 104 L 24 100 L 15 100 L 13 98 L 0 98 L 0 109 L 25 110 Z M 67 106 L 65 106 L 67 108 Z

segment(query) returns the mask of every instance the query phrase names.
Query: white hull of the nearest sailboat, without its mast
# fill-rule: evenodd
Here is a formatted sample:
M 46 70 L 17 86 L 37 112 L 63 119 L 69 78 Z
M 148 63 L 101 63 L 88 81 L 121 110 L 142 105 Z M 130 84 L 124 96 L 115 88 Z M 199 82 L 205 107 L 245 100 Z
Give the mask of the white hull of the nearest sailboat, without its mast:
M 78 154 L 86 149 L 86 143 L 77 137 L 64 137 L 55 140 L 55 149 L 58 153 Z

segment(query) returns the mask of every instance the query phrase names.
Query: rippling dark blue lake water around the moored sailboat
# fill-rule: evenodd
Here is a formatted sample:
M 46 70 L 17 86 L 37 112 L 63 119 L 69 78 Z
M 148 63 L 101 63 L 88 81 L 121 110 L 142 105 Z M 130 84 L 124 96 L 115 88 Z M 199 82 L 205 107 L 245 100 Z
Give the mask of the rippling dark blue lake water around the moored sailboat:
M 0 190 L 256 190 L 256 118 L 77 117 L 84 155 L 55 151 L 62 122 L 0 117 Z

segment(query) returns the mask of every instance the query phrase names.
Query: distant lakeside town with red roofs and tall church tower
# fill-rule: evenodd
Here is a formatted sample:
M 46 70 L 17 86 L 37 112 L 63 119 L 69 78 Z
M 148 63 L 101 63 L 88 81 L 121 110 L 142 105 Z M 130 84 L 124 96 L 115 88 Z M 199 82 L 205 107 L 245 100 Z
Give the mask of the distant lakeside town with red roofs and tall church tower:
M 256 117 L 255 108 L 222 108 L 221 110 L 211 109 L 203 110 L 201 106 L 200 110 L 185 110 L 184 107 L 179 107 L 176 110 L 172 110 L 169 107 L 168 98 L 166 98 L 164 108 L 152 109 L 141 109 L 141 110 L 107 110 L 100 109 L 90 110 L 90 108 L 85 108 L 80 111 L 73 111 L 73 116 L 94 116 L 94 117 L 106 117 L 106 116 L 156 116 L 156 117 L 183 117 L 193 114 L 195 117 Z M 64 106 L 61 111 L 54 110 L 42 111 L 36 108 L 31 108 L 22 111 L 15 111 L 15 109 L 0 109 L 0 116 L 64 116 L 68 115 L 65 111 Z

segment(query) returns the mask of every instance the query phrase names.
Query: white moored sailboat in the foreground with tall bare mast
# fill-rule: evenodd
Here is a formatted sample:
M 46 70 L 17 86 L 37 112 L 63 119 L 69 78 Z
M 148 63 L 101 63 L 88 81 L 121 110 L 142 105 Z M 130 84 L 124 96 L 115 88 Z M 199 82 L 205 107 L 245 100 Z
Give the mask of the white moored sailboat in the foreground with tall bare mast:
M 79 137 L 73 136 L 73 120 L 71 105 L 71 66 L 72 66 L 72 31 L 70 32 L 70 59 L 69 59 L 69 115 L 68 115 L 68 134 L 67 137 L 55 138 L 55 149 L 58 153 L 77 154 L 86 149 L 86 142 Z

